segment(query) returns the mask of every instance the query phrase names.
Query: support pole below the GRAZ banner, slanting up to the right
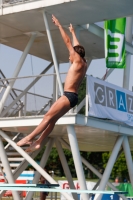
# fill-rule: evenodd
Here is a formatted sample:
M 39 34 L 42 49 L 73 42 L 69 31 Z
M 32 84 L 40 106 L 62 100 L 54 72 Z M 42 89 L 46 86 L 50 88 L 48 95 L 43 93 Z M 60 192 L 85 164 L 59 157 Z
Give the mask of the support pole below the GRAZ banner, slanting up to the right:
M 116 161 L 116 158 L 117 158 L 117 155 L 119 153 L 120 147 L 122 145 L 123 139 L 124 139 L 124 136 L 120 136 L 117 139 L 116 143 L 115 143 L 115 146 L 113 148 L 112 154 L 111 154 L 111 156 L 109 158 L 109 161 L 107 163 L 106 169 L 105 169 L 105 171 L 103 173 L 103 177 L 102 177 L 102 180 L 101 180 L 100 185 L 98 187 L 98 190 L 104 190 L 105 187 L 106 187 L 106 184 L 108 182 L 111 170 L 113 168 L 113 165 L 114 165 L 114 163 Z M 101 198 L 102 198 L 102 195 L 98 194 L 98 195 L 95 195 L 94 200 L 95 199 L 100 200 Z

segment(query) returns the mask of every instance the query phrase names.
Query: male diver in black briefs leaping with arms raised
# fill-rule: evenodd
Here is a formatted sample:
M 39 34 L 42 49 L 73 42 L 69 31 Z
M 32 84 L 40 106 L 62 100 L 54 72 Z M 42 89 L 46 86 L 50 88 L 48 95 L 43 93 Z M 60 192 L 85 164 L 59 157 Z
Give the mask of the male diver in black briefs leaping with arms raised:
M 52 21 L 55 26 L 59 28 L 61 36 L 69 51 L 71 67 L 69 68 L 66 76 L 63 96 L 61 96 L 51 106 L 49 111 L 44 115 L 41 123 L 34 129 L 34 131 L 17 143 L 18 146 L 30 144 L 29 148 L 26 150 L 27 152 L 39 149 L 44 138 L 46 138 L 53 130 L 56 121 L 71 108 L 76 106 L 78 103 L 78 89 L 83 78 L 85 77 L 87 70 L 87 63 L 84 58 L 85 50 L 79 44 L 72 24 L 70 24 L 69 31 L 72 34 L 74 46 L 72 45 L 70 37 L 67 35 L 60 22 L 54 15 L 52 15 Z M 41 134 L 40 137 L 35 142 L 32 142 L 33 138 L 39 134 Z

